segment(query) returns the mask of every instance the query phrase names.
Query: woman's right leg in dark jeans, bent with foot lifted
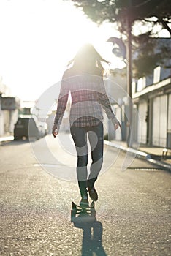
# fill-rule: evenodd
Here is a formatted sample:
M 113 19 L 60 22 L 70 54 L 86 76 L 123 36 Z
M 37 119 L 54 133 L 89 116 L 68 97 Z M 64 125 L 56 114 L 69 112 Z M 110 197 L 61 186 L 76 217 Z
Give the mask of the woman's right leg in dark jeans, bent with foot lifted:
M 96 127 L 90 127 L 88 139 L 91 145 L 91 169 L 88 177 L 88 187 L 93 187 L 103 163 L 103 148 L 104 148 L 104 130 L 103 124 L 100 123 Z

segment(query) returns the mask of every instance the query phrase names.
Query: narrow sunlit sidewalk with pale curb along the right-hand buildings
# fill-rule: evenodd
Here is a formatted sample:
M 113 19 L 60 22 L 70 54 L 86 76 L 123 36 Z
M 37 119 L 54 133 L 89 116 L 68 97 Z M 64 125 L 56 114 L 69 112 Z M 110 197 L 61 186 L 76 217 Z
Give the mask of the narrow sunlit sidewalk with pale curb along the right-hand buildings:
M 126 141 L 107 141 L 104 140 L 109 146 L 113 146 L 115 148 L 119 148 L 122 151 L 128 151 L 130 154 L 134 154 L 137 157 L 147 160 L 148 162 L 153 163 L 154 165 L 158 165 L 162 169 L 171 171 L 171 150 L 168 149 L 167 156 L 165 156 L 166 152 L 164 152 L 164 148 L 155 147 L 155 146 L 147 146 L 140 145 L 139 147 L 129 148 L 127 146 Z M 164 154 L 164 156 L 163 156 Z

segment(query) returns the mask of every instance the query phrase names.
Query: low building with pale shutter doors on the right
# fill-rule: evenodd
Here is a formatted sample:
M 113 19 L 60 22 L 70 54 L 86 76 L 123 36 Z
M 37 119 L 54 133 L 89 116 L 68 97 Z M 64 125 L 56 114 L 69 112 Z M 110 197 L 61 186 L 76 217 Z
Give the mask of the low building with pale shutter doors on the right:
M 132 89 L 140 116 L 137 140 L 149 146 L 171 148 L 170 67 L 156 67 L 150 77 L 134 81 Z

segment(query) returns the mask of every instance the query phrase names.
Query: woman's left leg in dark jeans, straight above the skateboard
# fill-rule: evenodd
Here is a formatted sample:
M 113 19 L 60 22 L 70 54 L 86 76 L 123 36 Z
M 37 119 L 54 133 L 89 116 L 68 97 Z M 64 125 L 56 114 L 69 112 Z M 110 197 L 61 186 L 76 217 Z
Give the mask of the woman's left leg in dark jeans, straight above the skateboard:
M 88 147 L 87 131 L 84 127 L 71 127 L 71 135 L 77 151 L 77 180 L 81 197 L 87 196 Z

